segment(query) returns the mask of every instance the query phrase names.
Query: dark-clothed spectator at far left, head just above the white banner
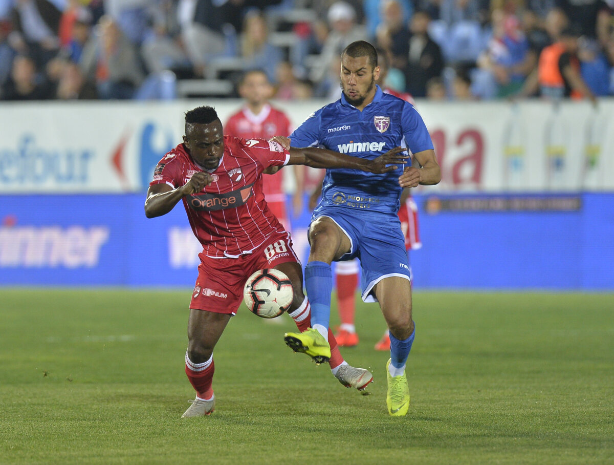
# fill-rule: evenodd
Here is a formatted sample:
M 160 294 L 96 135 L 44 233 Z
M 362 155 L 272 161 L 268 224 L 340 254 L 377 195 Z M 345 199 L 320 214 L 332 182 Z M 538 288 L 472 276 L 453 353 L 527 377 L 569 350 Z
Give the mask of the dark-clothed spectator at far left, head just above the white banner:
M 41 73 L 36 72 L 36 63 L 26 55 L 13 60 L 10 77 L 2 88 L 3 100 L 46 100 L 52 96 L 52 87 Z

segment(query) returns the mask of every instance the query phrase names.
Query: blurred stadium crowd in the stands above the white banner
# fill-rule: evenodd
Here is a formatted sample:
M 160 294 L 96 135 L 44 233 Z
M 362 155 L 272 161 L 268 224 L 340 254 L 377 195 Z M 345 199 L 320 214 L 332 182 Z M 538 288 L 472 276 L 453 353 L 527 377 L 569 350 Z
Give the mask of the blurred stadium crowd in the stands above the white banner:
M 606 1 L 0 0 L 0 100 L 236 97 L 249 69 L 280 100 L 336 100 L 359 39 L 416 98 L 607 96 Z

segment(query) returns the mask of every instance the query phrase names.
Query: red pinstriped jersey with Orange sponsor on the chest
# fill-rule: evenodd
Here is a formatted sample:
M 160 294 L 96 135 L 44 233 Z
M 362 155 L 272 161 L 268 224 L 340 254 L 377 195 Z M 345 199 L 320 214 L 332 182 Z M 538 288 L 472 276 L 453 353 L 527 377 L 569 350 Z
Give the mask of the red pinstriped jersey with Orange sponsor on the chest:
M 204 255 L 238 257 L 257 248 L 271 233 L 284 231 L 266 205 L 262 171 L 269 166 L 284 166 L 289 159 L 290 153 L 277 143 L 224 136 L 220 164 L 209 171 L 213 182 L 183 198 Z M 184 144 L 179 144 L 160 160 L 149 185 L 166 182 L 176 189 L 198 171 L 205 170 L 196 165 Z

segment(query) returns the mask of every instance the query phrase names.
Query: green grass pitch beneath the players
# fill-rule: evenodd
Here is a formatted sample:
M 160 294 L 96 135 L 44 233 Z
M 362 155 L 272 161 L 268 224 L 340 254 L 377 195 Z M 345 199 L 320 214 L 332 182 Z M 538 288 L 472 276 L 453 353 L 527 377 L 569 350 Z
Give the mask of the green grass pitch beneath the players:
M 414 295 L 411 406 L 386 413 L 383 318 L 359 303 L 370 396 L 244 307 L 217 408 L 179 418 L 190 291 L 0 289 L 0 463 L 614 463 L 614 295 Z M 335 318 L 333 317 L 333 320 Z

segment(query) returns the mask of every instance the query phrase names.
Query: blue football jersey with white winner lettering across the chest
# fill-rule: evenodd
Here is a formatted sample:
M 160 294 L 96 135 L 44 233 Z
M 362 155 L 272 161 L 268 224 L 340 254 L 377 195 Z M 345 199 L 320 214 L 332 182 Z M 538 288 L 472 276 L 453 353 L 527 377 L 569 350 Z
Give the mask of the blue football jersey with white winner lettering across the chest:
M 363 111 L 341 93 L 340 100 L 309 115 L 290 139 L 293 147 L 320 146 L 370 160 L 394 147 L 408 147 L 411 153 L 433 148 L 429 131 L 413 105 L 382 92 L 379 86 Z M 398 177 L 405 166 L 385 174 L 329 169 L 318 208 L 338 205 L 397 213 L 402 190 Z

